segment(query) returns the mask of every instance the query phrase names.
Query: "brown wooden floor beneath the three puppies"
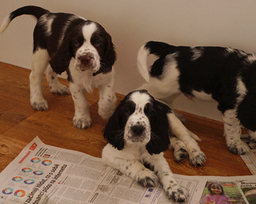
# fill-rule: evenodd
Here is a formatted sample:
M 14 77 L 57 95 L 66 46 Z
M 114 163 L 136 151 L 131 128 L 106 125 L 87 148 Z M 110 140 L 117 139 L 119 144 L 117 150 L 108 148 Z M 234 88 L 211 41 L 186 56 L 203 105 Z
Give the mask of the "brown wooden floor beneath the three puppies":
M 43 95 L 49 109 L 34 110 L 29 103 L 30 70 L 0 63 L 0 171 L 2 171 L 35 136 L 51 146 L 77 150 L 100 157 L 106 141 L 102 129 L 106 124 L 98 115 L 98 91 L 87 94 L 93 124 L 85 130 L 72 125 L 74 104 L 70 95 L 53 95 L 43 80 Z M 60 79 L 63 84 L 66 80 Z M 124 96 L 117 94 L 120 101 Z M 217 111 L 217 110 L 216 110 Z M 186 118 L 186 126 L 201 137 L 201 150 L 207 161 L 202 167 L 193 167 L 188 159 L 176 163 L 173 152 L 167 150 L 165 158 L 173 173 L 182 175 L 251 175 L 240 156 L 227 150 L 223 137 L 223 124 L 207 118 L 180 112 Z

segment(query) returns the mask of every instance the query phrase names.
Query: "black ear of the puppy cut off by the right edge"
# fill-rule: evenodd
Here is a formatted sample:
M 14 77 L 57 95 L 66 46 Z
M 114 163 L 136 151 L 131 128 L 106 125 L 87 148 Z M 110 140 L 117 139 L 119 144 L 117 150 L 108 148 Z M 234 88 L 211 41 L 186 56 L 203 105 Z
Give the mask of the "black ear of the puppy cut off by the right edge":
M 256 131 L 256 90 L 249 90 L 238 105 L 237 118 L 250 131 Z

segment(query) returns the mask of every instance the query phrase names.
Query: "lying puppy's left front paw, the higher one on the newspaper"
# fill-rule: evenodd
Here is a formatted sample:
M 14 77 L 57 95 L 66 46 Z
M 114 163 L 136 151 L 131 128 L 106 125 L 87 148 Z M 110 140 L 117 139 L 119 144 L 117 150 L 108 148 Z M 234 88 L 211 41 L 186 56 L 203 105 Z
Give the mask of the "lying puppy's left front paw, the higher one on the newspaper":
M 136 180 L 141 186 L 153 187 L 158 183 L 158 176 L 149 169 L 141 169 L 136 175 Z

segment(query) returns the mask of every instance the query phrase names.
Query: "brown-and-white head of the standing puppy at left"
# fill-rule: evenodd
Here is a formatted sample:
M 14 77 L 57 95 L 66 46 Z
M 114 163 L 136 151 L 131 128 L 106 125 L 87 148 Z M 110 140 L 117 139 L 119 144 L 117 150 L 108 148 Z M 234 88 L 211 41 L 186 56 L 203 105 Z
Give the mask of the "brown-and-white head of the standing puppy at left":
M 59 49 L 51 58 L 53 70 L 57 73 L 66 71 L 70 59 L 74 57 L 74 67 L 78 71 L 89 70 L 94 75 L 111 71 L 116 60 L 111 36 L 97 22 L 81 21 L 76 27 L 70 25 L 72 29 L 67 30 Z

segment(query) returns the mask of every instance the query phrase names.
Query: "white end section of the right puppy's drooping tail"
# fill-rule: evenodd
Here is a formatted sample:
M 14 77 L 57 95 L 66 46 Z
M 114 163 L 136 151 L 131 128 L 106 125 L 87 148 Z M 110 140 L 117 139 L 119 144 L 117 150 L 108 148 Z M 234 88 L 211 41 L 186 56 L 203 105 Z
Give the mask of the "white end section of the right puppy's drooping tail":
M 139 69 L 139 73 L 141 73 L 142 77 L 146 80 L 146 82 L 150 81 L 150 70 L 147 69 L 148 55 L 150 55 L 150 48 L 147 48 L 147 44 L 144 44 L 139 49 L 137 55 L 137 67 Z

